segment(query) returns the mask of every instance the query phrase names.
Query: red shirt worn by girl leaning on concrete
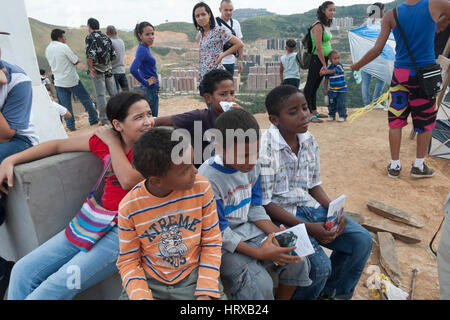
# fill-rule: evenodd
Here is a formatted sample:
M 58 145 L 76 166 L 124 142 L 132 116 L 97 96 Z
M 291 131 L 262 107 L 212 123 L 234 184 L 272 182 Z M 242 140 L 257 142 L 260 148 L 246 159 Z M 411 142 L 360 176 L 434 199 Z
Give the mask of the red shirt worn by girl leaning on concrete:
M 89 149 L 93 154 L 100 158 L 103 162 L 103 166 L 106 166 L 111 159 L 108 146 L 96 135 L 93 135 L 89 139 Z M 127 153 L 128 161 L 132 160 L 133 148 Z M 124 190 L 120 186 L 117 179 L 114 168 L 112 165 L 109 167 L 105 174 L 105 188 L 102 196 L 102 205 L 105 209 L 111 211 L 117 211 L 119 209 L 119 202 L 125 197 L 129 190 Z

